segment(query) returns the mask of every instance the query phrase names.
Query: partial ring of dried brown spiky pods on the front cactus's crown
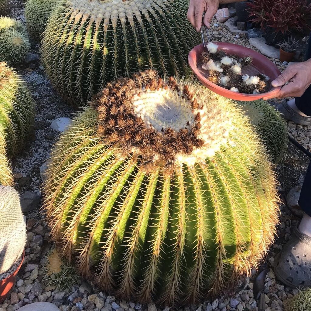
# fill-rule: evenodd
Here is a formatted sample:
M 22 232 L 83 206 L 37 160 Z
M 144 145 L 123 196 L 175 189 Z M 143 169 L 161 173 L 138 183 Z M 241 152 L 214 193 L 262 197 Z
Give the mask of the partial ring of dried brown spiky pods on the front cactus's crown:
M 180 86 L 173 77 L 165 82 L 154 70 L 109 83 L 93 97 L 92 105 L 99 113 L 98 134 L 105 143 L 119 147 L 124 155 L 133 148 L 139 150 L 141 164 L 147 171 L 158 165 L 172 168 L 177 154 L 183 152 L 190 155 L 195 148 L 203 145 L 202 139 L 198 138 L 200 115 L 197 114 L 189 129 L 177 132 L 172 128 L 162 128 L 162 132 L 157 132 L 154 128 L 147 127 L 134 111 L 132 99 L 143 88 L 151 91 L 164 88 L 180 92 Z M 183 87 L 181 96 L 191 103 L 192 109 L 198 108 L 198 102 L 187 85 Z

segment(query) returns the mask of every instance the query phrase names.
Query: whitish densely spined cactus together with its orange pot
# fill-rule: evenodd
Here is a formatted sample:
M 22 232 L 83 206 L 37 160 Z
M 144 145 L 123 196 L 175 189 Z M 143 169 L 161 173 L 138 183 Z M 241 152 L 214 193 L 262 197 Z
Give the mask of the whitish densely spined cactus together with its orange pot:
M 26 244 L 26 223 L 19 195 L 11 187 L 0 185 L 0 302 L 14 286 Z M 20 258 L 20 259 L 19 259 Z

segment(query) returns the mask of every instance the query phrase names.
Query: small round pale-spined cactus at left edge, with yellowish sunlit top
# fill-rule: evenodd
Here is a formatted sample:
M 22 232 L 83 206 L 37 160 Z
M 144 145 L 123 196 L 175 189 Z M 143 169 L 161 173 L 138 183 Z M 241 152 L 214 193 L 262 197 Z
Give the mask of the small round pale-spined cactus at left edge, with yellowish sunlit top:
M 29 52 L 27 31 L 20 21 L 0 17 L 0 60 L 20 63 Z

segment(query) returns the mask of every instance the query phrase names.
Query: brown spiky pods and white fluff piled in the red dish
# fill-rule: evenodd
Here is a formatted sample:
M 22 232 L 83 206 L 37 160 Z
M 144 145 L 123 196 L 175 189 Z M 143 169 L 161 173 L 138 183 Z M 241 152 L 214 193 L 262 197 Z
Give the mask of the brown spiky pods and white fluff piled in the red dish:
M 216 45 L 215 45 L 216 46 Z M 245 94 L 256 94 L 262 93 L 267 88 L 267 76 L 263 74 L 258 74 L 256 77 L 259 78 L 258 83 L 256 84 L 246 84 L 243 80 L 242 73 L 237 73 L 233 66 L 239 66 L 241 68 L 252 65 L 253 59 L 249 56 L 239 57 L 235 54 L 227 55 L 223 50 L 217 50 L 215 53 L 211 52 L 208 49 L 205 49 L 200 57 L 200 63 L 202 65 L 207 64 L 210 60 L 220 64 L 221 72 L 217 70 L 208 70 L 209 76 L 207 79 L 214 84 L 221 85 L 222 87 L 229 90 L 238 90 L 241 93 Z M 231 59 L 230 64 L 221 63 L 221 60 L 224 57 L 229 57 Z M 224 80 L 221 80 L 224 78 Z M 225 81 L 225 83 L 222 83 Z

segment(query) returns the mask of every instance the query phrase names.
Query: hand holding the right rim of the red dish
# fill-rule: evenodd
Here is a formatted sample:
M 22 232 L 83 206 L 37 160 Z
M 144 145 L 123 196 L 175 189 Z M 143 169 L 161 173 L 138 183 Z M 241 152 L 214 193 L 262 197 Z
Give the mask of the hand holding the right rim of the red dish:
M 286 85 L 285 83 L 288 82 Z M 272 81 L 272 86 L 282 86 L 281 90 L 271 98 L 300 97 L 311 84 L 311 60 L 288 66 L 285 71 Z

